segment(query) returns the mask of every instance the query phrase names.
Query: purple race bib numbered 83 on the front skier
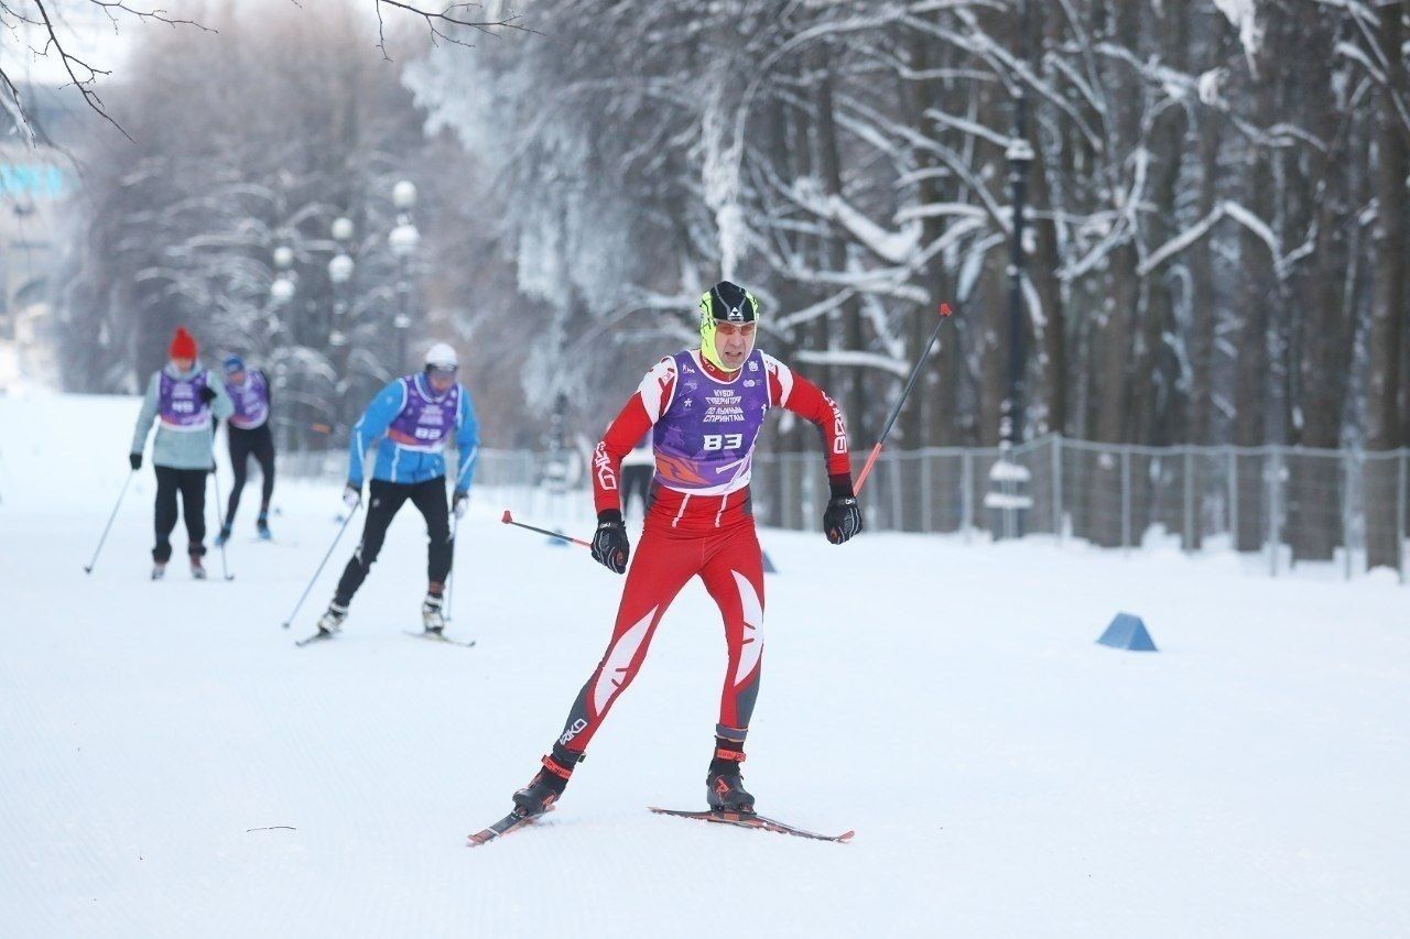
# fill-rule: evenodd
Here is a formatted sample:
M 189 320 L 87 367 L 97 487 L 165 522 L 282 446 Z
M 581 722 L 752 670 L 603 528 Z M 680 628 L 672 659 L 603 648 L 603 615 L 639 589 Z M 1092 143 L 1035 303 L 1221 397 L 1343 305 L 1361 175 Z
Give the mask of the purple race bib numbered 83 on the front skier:
M 706 375 L 689 352 L 673 358 L 675 393 L 651 431 L 656 484 L 691 495 L 743 489 L 768 413 L 763 352 L 750 352 L 728 383 Z

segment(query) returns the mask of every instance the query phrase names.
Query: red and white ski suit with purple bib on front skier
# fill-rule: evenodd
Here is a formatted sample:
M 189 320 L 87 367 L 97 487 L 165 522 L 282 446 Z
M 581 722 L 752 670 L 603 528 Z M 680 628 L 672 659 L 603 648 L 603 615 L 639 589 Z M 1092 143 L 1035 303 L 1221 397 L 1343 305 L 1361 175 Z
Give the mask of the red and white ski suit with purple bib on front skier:
M 697 575 L 725 622 L 728 664 L 716 733 L 743 744 L 764 647 L 763 557 L 750 512 L 749 467 L 759 424 L 774 406 L 816 424 L 829 478 L 850 491 L 842 412 L 816 385 L 757 350 L 732 375 L 716 369 L 698 350 L 661 360 L 598 444 L 592 461 L 598 512 L 620 508 L 622 458 L 649 431 L 656 441 L 657 472 L 612 640 L 554 746 L 564 767 L 571 770 L 581 757 L 612 702 L 646 660 L 661 616 Z M 732 444 L 735 451 L 729 450 Z M 712 454 L 712 448 L 723 448 L 723 454 Z M 698 460 L 678 454 L 698 454 Z M 719 482 L 711 477 L 726 472 L 729 478 Z

